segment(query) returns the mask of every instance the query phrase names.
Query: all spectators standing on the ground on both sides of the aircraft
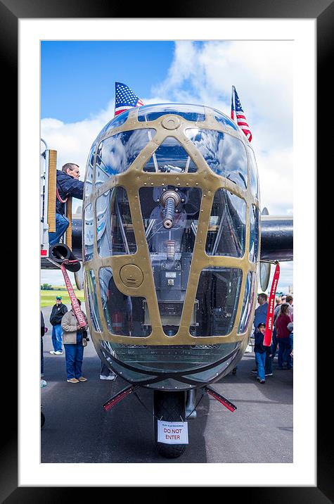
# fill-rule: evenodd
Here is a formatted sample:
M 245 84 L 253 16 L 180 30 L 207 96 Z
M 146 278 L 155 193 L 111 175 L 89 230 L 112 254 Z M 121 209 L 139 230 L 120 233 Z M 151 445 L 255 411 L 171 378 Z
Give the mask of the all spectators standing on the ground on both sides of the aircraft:
M 79 305 L 81 301 L 78 299 Z M 266 314 L 268 311 L 268 296 L 264 293 L 258 294 L 257 303 L 259 306 L 255 310 L 254 316 L 254 353 L 256 367 L 252 373 L 257 374 L 259 383 L 264 384 L 266 377 L 273 376 L 273 362 L 278 354 L 278 370 L 293 369 L 293 296 L 276 296 L 274 308 L 274 329 L 272 333 L 271 346 L 264 346 L 264 334 L 266 332 Z M 51 341 L 53 350 L 51 355 L 62 355 L 63 346 L 65 348 L 65 365 L 67 381 L 69 383 L 86 382 L 82 376 L 82 363 L 84 358 L 84 346 L 88 341 L 86 332 L 88 323 L 84 313 L 86 326 L 80 327 L 77 322 L 75 312 L 69 311 L 63 304 L 62 297 L 56 296 L 56 303 L 53 305 L 50 315 L 52 325 Z M 44 323 L 44 316 L 41 312 L 41 386 L 46 386 L 44 377 L 44 357 L 43 357 L 43 337 L 47 332 Z M 235 368 L 236 370 L 236 368 Z M 234 372 L 234 370 L 233 370 Z M 235 372 L 233 373 L 235 374 Z M 103 363 L 101 363 L 100 379 L 114 380 L 116 374 Z

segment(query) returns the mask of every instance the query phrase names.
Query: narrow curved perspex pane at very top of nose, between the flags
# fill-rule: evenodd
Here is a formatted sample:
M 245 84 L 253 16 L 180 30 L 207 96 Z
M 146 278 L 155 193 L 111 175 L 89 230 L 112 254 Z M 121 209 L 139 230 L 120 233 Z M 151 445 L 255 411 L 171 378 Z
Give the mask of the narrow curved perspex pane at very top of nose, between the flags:
M 145 105 L 139 108 L 139 121 L 153 121 L 162 115 L 176 114 L 188 121 L 204 121 L 205 111 L 202 105 L 187 105 L 179 103 L 159 103 L 159 105 Z

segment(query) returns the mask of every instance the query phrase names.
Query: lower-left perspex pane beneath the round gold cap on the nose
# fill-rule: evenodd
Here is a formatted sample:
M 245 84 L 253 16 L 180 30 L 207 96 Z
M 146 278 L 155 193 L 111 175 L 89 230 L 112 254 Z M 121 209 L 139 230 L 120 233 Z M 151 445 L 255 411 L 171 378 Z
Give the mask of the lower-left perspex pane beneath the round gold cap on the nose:
M 152 328 L 146 324 L 146 298 L 119 291 L 111 267 L 101 267 L 98 276 L 108 331 L 122 336 L 149 336 Z

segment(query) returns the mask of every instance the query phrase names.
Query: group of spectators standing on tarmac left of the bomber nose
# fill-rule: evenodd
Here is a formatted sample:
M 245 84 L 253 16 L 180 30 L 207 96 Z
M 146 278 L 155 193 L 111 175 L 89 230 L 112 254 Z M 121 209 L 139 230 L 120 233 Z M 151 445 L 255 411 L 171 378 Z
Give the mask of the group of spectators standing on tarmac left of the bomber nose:
M 81 301 L 77 300 L 81 306 Z M 74 310 L 63 304 L 62 297 L 56 296 L 56 303 L 53 305 L 50 315 L 50 323 L 52 325 L 51 341 L 53 350 L 51 355 L 62 355 L 63 347 L 65 349 L 65 367 L 68 383 L 76 384 L 86 382 L 87 379 L 82 375 L 82 363 L 84 359 L 84 347 L 89 341 L 87 336 L 88 322 L 84 312 L 86 326 L 80 327 L 77 321 Z M 46 386 L 44 377 L 44 345 L 43 337 L 46 334 L 47 328 L 44 323 L 44 316 L 41 312 L 41 387 Z M 100 379 L 114 380 L 116 374 L 109 368 L 101 364 Z

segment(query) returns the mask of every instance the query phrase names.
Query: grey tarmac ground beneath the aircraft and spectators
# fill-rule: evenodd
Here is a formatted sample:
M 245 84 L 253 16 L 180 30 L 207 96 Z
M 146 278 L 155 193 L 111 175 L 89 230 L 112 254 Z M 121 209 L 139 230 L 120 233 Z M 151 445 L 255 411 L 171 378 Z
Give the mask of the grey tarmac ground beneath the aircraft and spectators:
M 84 303 L 82 303 L 84 309 Z M 135 463 L 289 463 L 293 462 L 293 371 L 277 370 L 259 384 L 254 353 L 245 353 L 236 374 L 212 389 L 237 406 L 231 412 L 203 395 L 197 418 L 188 421 L 189 445 L 181 457 L 166 459 L 155 449 L 153 393 L 138 389 L 111 410 L 103 403 L 127 386 L 122 378 L 100 380 L 101 361 L 92 341 L 84 348 L 82 372 L 87 382 L 66 381 L 65 352 L 51 355 L 51 307 L 42 308 L 44 379 L 41 389 L 45 424 L 41 462 Z M 200 396 L 199 396 L 200 397 Z M 139 401 L 140 399 L 140 401 Z M 261 439 L 261 442 L 259 442 Z

